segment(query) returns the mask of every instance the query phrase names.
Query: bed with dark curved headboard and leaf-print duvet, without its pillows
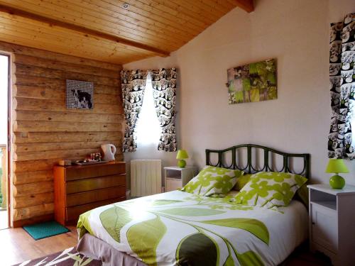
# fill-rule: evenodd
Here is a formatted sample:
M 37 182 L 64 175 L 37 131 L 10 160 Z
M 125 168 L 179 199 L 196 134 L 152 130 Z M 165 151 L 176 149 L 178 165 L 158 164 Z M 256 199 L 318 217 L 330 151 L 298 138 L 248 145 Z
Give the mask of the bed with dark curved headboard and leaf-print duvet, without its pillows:
M 310 155 L 246 144 L 206 150 L 206 165 L 308 178 Z M 93 209 L 78 221 L 77 250 L 103 265 L 279 265 L 307 239 L 300 201 L 266 209 L 230 202 L 236 193 L 213 198 L 177 190 Z

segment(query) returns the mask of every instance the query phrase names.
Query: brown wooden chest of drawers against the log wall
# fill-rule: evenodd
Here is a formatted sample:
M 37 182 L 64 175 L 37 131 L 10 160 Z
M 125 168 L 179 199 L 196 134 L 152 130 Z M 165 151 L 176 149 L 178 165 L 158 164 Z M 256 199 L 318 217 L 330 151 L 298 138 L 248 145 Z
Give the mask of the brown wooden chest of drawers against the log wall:
M 126 199 L 126 162 L 53 168 L 55 220 L 75 224 L 85 211 Z

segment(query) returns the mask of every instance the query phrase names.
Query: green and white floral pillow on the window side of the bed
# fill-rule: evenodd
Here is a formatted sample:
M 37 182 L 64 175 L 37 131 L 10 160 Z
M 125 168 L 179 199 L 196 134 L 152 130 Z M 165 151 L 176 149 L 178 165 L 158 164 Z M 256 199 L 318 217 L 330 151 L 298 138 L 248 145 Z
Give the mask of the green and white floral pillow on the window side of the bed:
M 225 196 L 244 172 L 206 165 L 181 190 L 202 196 Z

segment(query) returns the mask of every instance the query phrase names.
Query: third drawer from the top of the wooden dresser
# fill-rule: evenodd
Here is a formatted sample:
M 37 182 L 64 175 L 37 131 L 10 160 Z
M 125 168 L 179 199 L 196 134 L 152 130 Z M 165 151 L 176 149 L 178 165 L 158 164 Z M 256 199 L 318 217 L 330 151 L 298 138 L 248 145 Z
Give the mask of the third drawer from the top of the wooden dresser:
M 89 204 L 95 201 L 105 201 L 117 197 L 126 196 L 126 187 L 109 187 L 108 189 L 97 189 L 89 192 L 80 192 L 67 195 L 67 207 Z

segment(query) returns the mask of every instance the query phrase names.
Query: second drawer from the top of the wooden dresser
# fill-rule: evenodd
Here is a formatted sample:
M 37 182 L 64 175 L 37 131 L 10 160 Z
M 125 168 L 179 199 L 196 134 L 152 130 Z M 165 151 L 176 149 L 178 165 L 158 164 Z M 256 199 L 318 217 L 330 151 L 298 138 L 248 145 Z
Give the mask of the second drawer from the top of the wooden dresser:
M 87 192 L 94 189 L 117 187 L 126 184 L 126 174 L 111 175 L 108 177 L 95 177 L 70 181 L 65 184 L 67 194 Z

